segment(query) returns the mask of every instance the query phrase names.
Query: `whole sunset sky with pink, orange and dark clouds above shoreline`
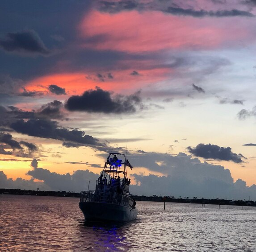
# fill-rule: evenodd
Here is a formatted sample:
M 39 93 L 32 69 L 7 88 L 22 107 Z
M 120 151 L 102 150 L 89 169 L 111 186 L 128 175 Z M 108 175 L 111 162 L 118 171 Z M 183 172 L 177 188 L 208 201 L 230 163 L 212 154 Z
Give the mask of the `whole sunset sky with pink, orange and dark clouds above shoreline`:
M 255 0 L 1 0 L 0 188 L 256 201 Z

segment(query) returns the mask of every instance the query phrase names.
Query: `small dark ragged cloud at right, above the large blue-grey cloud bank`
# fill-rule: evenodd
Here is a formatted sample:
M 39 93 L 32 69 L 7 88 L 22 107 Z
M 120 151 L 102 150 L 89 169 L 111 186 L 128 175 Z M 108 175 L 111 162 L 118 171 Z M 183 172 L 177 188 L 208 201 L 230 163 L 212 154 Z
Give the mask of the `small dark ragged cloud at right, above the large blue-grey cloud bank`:
M 232 153 L 230 147 L 224 148 L 224 147 L 220 147 L 218 145 L 199 144 L 195 148 L 191 148 L 189 146 L 187 149 L 189 150 L 189 153 L 192 153 L 196 157 L 203 157 L 206 159 L 233 161 L 235 163 L 243 162 L 243 160 L 241 159 L 243 157 L 243 155 Z

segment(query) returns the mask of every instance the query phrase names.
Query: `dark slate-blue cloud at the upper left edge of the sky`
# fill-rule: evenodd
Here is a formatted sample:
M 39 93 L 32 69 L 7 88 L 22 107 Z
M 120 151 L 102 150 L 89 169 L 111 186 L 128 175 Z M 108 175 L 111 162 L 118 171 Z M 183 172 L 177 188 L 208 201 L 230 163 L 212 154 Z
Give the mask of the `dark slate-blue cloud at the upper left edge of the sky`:
M 0 39 L 0 47 L 8 52 L 21 53 L 27 56 L 49 55 L 41 38 L 34 30 L 25 30 L 17 33 L 8 33 Z

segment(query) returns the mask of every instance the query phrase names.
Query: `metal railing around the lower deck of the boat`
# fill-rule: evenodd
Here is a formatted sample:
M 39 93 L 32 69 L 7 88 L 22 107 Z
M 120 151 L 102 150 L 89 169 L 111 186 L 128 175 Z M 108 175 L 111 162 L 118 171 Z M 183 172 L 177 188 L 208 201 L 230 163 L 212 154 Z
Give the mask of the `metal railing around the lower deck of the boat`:
M 127 195 L 116 192 L 83 191 L 80 194 L 80 202 L 112 203 L 134 208 L 134 200 Z

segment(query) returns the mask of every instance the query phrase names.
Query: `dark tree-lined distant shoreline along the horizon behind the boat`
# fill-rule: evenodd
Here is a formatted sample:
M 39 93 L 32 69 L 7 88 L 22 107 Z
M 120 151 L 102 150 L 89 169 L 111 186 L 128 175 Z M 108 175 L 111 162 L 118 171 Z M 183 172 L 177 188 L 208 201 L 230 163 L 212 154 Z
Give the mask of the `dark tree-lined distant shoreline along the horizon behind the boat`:
M 0 189 L 0 194 L 12 195 L 33 195 L 33 196 L 53 196 L 53 197 L 73 197 L 80 198 L 80 193 L 66 191 L 40 191 L 40 190 L 21 190 L 21 189 Z M 174 198 L 173 196 L 131 196 L 136 201 L 152 202 L 176 202 L 176 203 L 195 203 L 195 204 L 212 204 L 212 205 L 234 205 L 256 207 L 256 202 L 252 200 L 230 200 L 230 199 L 206 199 L 206 198 Z

